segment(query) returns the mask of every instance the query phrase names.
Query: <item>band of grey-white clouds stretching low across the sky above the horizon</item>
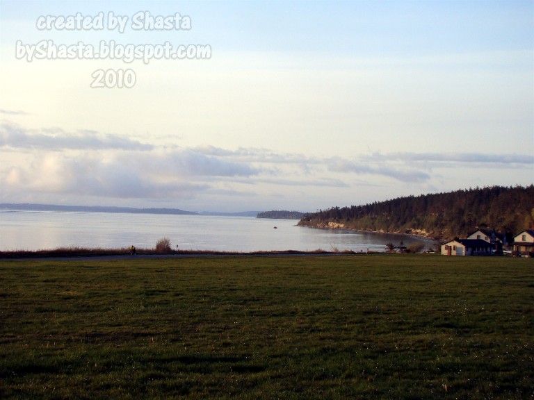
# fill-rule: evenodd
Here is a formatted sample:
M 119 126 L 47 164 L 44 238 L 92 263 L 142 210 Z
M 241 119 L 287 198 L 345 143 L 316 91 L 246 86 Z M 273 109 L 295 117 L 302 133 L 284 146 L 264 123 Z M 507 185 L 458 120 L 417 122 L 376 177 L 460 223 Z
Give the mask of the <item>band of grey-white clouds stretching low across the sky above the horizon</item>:
M 498 167 L 528 174 L 534 166 L 529 154 L 397 152 L 343 158 L 263 148 L 165 147 L 97 131 L 33 130 L 12 122 L 0 124 L 0 157 L 0 200 L 39 201 L 47 195 L 178 206 L 176 201 L 187 199 L 216 205 L 232 198 L 236 210 L 254 208 L 248 206 L 250 199 L 310 197 L 311 202 L 330 196 L 333 205 L 337 194 L 352 198 L 366 186 L 385 193 L 395 185 L 435 190 L 447 170 L 477 167 L 489 174 Z

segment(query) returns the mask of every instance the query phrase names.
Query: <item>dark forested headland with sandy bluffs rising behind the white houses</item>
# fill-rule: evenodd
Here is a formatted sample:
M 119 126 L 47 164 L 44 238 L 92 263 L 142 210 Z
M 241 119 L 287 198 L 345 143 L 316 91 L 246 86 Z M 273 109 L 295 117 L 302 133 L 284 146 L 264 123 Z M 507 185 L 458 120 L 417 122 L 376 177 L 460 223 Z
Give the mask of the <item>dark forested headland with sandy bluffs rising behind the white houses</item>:
M 298 224 L 432 238 L 461 237 L 482 227 L 512 234 L 534 227 L 534 185 L 492 186 L 334 207 L 309 213 Z

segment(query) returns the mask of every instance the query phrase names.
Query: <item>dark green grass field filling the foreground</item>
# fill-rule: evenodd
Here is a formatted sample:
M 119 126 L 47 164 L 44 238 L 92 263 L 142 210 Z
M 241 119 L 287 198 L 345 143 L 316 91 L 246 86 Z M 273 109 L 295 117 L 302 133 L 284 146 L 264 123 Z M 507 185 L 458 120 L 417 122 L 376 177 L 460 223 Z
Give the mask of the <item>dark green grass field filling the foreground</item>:
M 0 262 L 0 398 L 532 399 L 534 260 Z

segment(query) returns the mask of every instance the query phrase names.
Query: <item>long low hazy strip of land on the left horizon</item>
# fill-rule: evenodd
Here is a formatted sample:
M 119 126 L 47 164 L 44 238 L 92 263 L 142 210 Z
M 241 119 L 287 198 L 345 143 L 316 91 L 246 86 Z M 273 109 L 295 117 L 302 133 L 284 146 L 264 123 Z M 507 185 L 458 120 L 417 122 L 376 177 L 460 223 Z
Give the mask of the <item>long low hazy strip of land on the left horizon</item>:
M 129 213 L 129 214 L 170 214 L 170 215 L 198 215 L 191 211 L 179 208 L 131 208 L 131 207 L 107 207 L 107 206 L 58 206 L 56 204 L 32 204 L 32 203 L 0 203 L 0 210 L 17 211 L 58 211 L 58 212 L 81 212 L 81 213 Z

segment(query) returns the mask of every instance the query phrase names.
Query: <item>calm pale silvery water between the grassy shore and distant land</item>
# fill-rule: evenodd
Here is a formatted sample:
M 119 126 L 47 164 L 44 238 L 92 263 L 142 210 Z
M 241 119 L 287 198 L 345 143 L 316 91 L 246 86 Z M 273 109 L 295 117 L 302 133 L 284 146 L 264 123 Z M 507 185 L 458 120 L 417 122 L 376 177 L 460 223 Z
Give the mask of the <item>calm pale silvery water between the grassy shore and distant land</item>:
M 152 248 L 163 237 L 169 238 L 174 248 L 218 251 L 311 251 L 334 247 L 383 251 L 387 242 L 421 242 L 405 235 L 302 228 L 295 226 L 297 222 L 251 217 L 0 210 L 0 250 L 118 248 L 132 244 Z M 432 244 L 423 242 L 428 247 Z

